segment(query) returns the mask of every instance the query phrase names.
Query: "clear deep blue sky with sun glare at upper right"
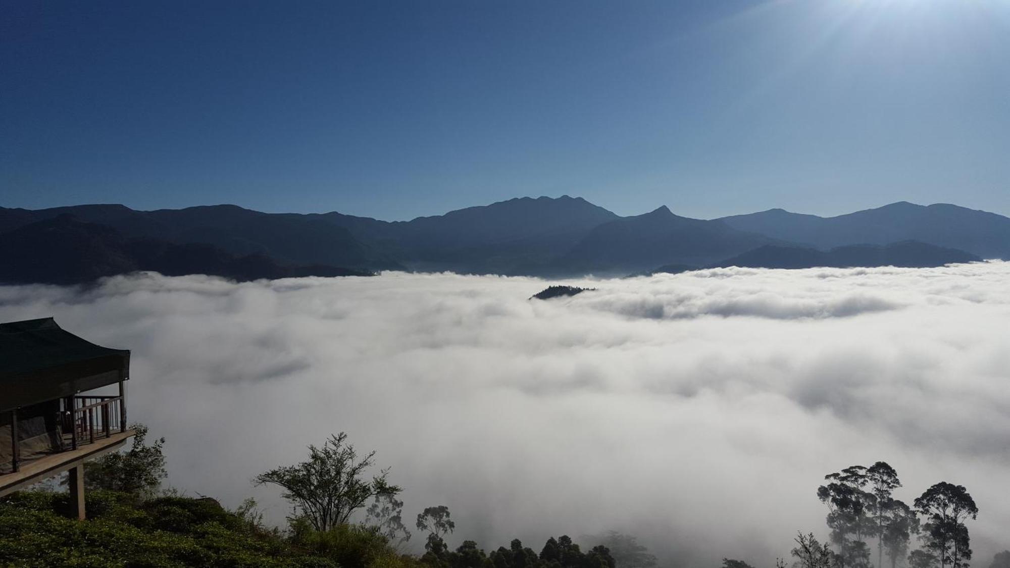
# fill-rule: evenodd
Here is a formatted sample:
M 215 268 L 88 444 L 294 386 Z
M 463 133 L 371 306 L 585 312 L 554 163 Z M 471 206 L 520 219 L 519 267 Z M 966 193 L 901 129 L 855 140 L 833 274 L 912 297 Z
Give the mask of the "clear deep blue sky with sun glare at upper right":
M 0 205 L 1010 214 L 1010 1 L 0 2 Z

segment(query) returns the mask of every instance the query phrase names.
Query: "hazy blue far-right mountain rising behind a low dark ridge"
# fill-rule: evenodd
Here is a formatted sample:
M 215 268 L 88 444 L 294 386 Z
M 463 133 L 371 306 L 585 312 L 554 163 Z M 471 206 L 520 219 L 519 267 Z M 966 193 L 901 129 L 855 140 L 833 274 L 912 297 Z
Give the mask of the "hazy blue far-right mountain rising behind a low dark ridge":
M 740 230 L 818 249 L 912 240 L 983 258 L 1010 259 L 1010 218 L 945 203 L 923 206 L 902 201 L 836 217 L 770 209 L 721 220 Z

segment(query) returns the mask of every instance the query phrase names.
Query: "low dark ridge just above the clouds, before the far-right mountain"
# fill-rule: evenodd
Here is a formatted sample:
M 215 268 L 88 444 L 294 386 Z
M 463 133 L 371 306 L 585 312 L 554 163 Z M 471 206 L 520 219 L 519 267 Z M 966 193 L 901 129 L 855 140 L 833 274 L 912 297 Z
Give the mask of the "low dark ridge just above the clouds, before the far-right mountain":
M 847 245 L 830 251 L 766 245 L 713 266 L 749 268 L 880 267 L 928 268 L 982 259 L 971 253 L 904 241 L 891 245 Z

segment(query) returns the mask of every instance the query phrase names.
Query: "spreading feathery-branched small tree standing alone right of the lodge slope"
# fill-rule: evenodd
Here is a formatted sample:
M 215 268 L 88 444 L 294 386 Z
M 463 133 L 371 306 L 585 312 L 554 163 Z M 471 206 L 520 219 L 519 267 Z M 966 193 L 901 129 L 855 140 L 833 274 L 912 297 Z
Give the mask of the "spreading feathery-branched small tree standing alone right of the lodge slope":
M 309 446 L 308 460 L 261 473 L 252 483 L 284 488 L 284 498 L 292 501 L 316 531 L 342 525 L 376 495 L 401 491 L 387 482 L 388 469 L 381 470 L 371 481 L 364 479 L 376 453 L 370 452 L 359 460 L 355 447 L 346 441 L 347 435 L 342 432 L 330 436 L 322 448 Z

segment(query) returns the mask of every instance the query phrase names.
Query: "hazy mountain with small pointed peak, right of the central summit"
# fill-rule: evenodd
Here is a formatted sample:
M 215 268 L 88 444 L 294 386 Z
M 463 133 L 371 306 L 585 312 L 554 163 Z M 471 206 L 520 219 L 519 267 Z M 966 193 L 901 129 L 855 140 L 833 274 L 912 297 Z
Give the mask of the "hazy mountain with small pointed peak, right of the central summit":
M 624 275 L 662 265 L 703 266 L 774 242 L 720 220 L 675 215 L 663 206 L 597 226 L 559 260 L 559 268 Z

